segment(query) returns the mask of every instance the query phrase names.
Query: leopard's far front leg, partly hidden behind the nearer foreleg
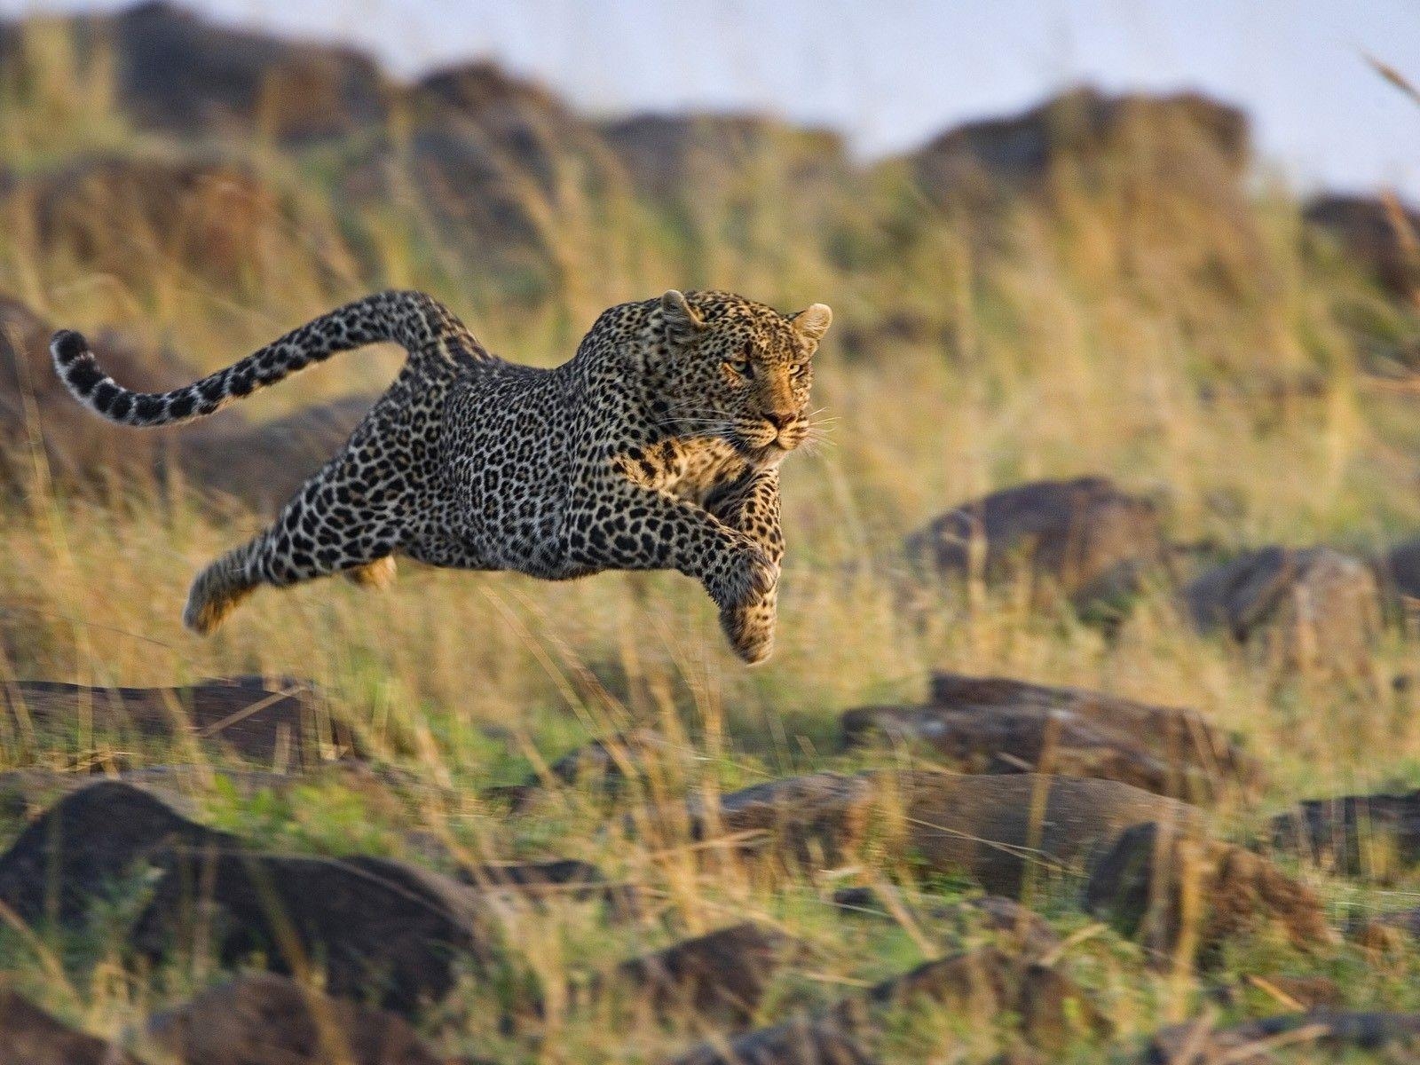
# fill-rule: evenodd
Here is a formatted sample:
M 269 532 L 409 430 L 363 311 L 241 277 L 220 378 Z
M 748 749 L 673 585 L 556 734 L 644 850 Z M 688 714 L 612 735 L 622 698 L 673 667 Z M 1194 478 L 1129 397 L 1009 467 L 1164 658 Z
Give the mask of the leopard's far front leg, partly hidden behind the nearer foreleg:
M 706 510 L 730 528 L 748 535 L 774 561 L 772 585 L 743 602 L 720 608 L 720 628 L 740 657 L 751 663 L 764 662 L 774 650 L 780 595 L 777 578 L 784 558 L 778 467 L 748 470 L 717 487 L 706 498 Z

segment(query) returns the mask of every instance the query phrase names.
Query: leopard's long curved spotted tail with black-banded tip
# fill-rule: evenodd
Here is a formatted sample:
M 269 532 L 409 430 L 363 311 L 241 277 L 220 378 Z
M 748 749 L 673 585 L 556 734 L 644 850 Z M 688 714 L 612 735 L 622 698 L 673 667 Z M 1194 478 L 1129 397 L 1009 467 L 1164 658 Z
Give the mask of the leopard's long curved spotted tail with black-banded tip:
M 491 356 L 437 300 L 423 293 L 378 293 L 293 329 L 241 362 L 172 392 L 132 392 L 98 365 L 88 341 L 61 329 L 50 341 L 54 371 L 77 400 L 109 422 L 162 426 L 220 410 L 258 388 L 324 362 L 339 351 L 393 341 L 412 358 L 460 362 Z

